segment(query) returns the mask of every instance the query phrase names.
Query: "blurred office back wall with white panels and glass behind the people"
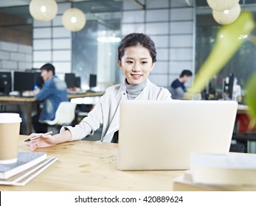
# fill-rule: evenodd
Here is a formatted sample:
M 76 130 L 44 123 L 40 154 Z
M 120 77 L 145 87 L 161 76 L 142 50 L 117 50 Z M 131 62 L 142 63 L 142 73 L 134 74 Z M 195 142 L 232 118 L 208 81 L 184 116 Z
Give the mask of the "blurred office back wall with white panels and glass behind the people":
M 0 2 L 0 70 L 24 71 L 55 65 L 57 74 L 74 72 L 88 87 L 89 74 L 97 74 L 98 89 L 122 82 L 116 65 L 118 41 L 131 32 L 144 32 L 156 43 L 157 63 L 150 79 L 165 88 L 183 69 L 198 71 L 215 43 L 220 25 L 212 18 L 205 0 L 94 0 L 58 2 L 58 15 L 47 22 L 34 21 L 29 13 L 30 0 Z M 14 3 L 15 1 L 13 1 Z M 255 0 L 241 0 L 242 10 L 255 11 Z M 63 27 L 61 16 L 71 7 L 86 14 L 80 32 Z M 101 38 L 101 40 L 99 39 Z M 105 40 L 103 39 L 105 38 Z M 221 81 L 235 73 L 244 88 L 255 71 L 255 46 L 246 42 L 218 76 Z M 193 82 L 193 78 L 187 85 Z

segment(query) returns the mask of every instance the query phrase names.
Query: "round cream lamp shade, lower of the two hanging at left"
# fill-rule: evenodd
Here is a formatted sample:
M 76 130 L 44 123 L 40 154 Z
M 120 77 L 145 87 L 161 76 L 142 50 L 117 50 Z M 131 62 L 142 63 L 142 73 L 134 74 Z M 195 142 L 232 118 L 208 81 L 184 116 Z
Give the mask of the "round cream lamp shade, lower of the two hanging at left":
M 64 27 L 72 32 L 78 32 L 86 25 L 86 15 L 77 8 L 66 10 L 62 16 Z

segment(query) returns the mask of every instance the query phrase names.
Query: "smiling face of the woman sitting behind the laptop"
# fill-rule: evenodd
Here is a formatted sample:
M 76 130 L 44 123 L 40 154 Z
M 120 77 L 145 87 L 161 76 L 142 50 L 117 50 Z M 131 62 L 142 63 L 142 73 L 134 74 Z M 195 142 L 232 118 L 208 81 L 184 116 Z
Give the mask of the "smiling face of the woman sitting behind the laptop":
M 121 63 L 117 60 L 118 66 L 130 85 L 139 85 L 153 69 L 151 54 L 143 46 L 130 46 L 125 48 L 125 54 L 122 56 Z

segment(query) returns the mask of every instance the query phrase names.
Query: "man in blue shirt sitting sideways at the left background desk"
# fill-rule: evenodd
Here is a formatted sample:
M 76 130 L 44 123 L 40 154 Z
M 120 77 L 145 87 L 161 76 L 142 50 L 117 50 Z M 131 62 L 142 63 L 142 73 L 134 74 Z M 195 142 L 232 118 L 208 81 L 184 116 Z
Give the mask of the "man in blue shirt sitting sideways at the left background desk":
M 66 82 L 55 76 L 55 67 L 46 63 L 40 70 L 44 86 L 35 94 L 35 99 L 43 102 L 44 106 L 41 113 L 32 117 L 32 125 L 36 133 L 47 132 L 47 124 L 44 124 L 43 121 L 54 119 L 60 102 L 69 101 Z

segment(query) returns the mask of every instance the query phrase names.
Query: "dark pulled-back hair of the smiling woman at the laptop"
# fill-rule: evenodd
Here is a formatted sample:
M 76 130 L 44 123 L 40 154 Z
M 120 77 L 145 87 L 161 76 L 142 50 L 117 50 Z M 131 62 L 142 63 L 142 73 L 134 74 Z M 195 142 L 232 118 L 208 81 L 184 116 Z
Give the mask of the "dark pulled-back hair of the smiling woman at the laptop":
M 130 46 L 144 46 L 151 53 L 152 62 L 156 62 L 156 48 L 155 43 L 148 35 L 142 33 L 131 33 L 122 38 L 118 46 L 118 60 L 121 61 L 122 56 L 125 54 L 125 48 Z

